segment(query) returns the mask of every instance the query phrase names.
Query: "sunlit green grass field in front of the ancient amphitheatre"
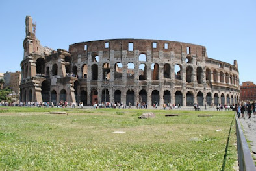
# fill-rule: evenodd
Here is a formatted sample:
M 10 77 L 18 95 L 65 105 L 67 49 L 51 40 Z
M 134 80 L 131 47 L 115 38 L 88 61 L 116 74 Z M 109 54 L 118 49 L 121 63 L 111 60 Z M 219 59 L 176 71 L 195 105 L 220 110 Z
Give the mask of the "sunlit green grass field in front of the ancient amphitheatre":
M 0 170 L 233 170 L 233 112 L 158 110 L 138 119 L 143 112 L 0 108 Z

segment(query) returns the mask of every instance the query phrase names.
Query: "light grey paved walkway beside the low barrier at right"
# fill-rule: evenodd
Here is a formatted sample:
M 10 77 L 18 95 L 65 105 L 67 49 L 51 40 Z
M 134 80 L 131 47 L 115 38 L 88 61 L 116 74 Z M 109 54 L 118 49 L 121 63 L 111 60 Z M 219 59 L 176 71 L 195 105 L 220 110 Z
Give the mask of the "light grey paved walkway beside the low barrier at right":
M 256 159 L 256 116 L 252 114 L 250 119 L 246 117 L 245 119 L 240 118 L 239 120 L 242 124 L 246 139 L 250 141 L 251 151 L 253 153 L 254 159 Z

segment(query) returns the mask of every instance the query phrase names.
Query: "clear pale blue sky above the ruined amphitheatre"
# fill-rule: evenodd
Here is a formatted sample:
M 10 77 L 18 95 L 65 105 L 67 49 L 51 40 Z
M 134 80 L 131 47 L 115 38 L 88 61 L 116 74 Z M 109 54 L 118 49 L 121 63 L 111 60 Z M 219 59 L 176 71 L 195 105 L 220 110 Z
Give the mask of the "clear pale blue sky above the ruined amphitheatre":
M 204 45 L 209 58 L 238 61 L 240 84 L 256 84 L 255 0 L 0 1 L 0 72 L 21 70 L 25 17 L 41 45 L 145 38 Z M 254 74 L 253 74 L 254 73 Z

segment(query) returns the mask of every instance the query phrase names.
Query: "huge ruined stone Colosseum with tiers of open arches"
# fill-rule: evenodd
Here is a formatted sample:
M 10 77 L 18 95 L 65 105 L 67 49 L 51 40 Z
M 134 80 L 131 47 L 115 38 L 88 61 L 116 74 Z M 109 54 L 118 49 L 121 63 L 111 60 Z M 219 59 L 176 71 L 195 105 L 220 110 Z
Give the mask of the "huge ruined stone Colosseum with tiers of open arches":
M 206 48 L 167 40 L 112 39 L 42 47 L 25 19 L 22 102 L 237 104 L 237 61 L 208 58 Z M 223 57 L 224 58 L 224 57 Z

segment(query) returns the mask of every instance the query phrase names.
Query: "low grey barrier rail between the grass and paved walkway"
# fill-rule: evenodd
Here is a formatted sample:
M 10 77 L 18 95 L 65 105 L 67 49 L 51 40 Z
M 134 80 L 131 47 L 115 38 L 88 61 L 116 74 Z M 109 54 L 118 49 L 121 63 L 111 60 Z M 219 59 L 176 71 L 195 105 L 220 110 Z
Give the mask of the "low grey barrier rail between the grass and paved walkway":
M 255 171 L 256 168 L 253 162 L 253 158 L 251 157 L 251 152 L 248 147 L 246 137 L 244 137 L 244 133 L 242 131 L 240 121 L 238 120 L 237 115 L 235 115 L 235 118 L 236 118 L 237 154 L 238 154 L 239 170 Z

